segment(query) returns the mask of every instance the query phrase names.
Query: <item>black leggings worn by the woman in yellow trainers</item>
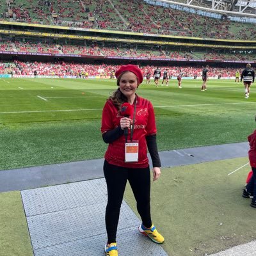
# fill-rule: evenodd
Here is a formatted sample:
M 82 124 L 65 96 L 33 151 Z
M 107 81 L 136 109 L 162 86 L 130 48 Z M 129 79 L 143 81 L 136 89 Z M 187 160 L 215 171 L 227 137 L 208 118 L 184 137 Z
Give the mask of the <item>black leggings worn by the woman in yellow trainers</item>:
M 109 164 L 105 160 L 103 170 L 108 188 L 105 216 L 108 243 L 116 242 L 116 230 L 127 180 L 136 199 L 137 210 L 143 225 L 151 227 L 149 166 L 147 168 L 125 168 Z

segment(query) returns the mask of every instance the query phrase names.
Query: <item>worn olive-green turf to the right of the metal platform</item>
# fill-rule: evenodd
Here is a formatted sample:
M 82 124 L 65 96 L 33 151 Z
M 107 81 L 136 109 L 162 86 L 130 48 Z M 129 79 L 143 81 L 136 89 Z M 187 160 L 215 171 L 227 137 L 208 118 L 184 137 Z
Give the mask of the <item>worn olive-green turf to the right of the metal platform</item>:
M 247 162 L 243 157 L 162 170 L 152 183 L 151 213 L 168 255 L 211 255 L 255 241 L 255 209 L 241 196 L 250 169 L 228 175 Z M 138 215 L 131 188 L 125 200 Z

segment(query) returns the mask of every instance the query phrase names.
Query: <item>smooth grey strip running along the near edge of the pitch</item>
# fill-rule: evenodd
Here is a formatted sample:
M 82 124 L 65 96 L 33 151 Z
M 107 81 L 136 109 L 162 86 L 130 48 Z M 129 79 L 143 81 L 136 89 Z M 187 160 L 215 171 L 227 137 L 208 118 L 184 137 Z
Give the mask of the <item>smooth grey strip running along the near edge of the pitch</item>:
M 248 142 L 160 152 L 162 167 L 204 163 L 248 154 Z M 149 157 L 150 159 L 150 157 Z M 0 171 L 0 192 L 40 188 L 103 177 L 104 159 Z M 151 163 L 150 163 L 151 164 Z

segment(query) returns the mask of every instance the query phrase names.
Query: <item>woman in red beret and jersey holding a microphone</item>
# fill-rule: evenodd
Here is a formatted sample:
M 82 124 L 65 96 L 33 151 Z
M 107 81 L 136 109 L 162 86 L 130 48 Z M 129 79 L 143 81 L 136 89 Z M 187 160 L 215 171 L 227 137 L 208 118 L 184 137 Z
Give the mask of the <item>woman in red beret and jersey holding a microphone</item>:
M 108 143 L 103 166 L 108 189 L 105 216 L 108 234 L 105 252 L 108 256 L 118 255 L 116 230 L 127 180 L 142 220 L 139 231 L 155 243 L 164 242 L 164 237 L 157 232 L 150 216 L 150 168 L 147 148 L 153 163 L 153 180 L 159 179 L 161 175 L 154 109 L 149 100 L 136 94 L 139 84 L 143 81 L 140 68 L 136 65 L 123 65 L 116 70 L 115 76 L 118 89 L 106 101 L 101 126 L 102 138 Z M 132 112 L 129 117 L 120 115 L 120 108 L 125 102 L 131 104 Z M 138 143 L 138 161 L 125 161 L 125 128 L 129 129 L 129 140 Z

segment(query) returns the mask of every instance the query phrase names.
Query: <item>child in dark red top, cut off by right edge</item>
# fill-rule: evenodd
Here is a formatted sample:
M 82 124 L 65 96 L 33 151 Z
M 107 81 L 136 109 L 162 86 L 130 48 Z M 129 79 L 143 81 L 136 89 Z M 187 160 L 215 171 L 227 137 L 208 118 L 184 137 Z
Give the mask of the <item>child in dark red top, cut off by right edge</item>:
M 253 175 L 243 191 L 243 197 L 252 198 L 250 205 L 256 208 L 256 130 L 248 136 L 248 141 L 250 144 L 248 156 Z

